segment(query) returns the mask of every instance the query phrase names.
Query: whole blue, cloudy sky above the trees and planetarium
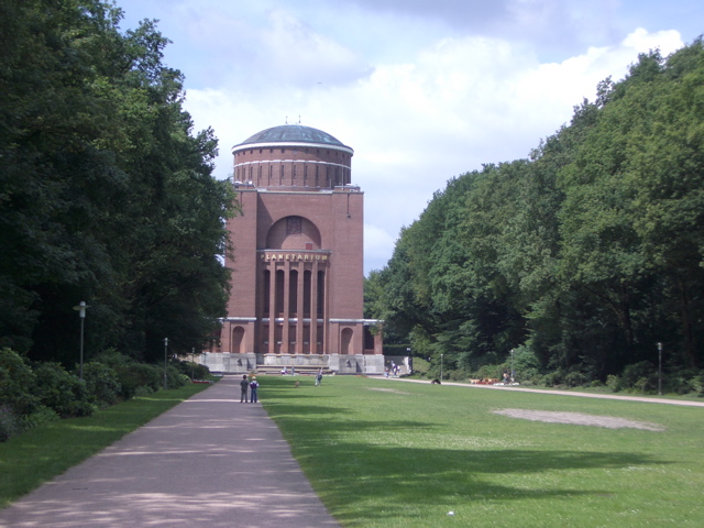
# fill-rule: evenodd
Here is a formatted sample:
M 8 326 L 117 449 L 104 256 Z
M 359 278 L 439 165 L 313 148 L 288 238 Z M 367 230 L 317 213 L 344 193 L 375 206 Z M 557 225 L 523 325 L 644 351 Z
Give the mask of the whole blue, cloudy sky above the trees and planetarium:
M 364 271 L 382 270 L 433 193 L 483 164 L 526 158 L 619 80 L 639 53 L 704 33 L 701 0 L 117 0 L 172 41 L 215 176 L 231 147 L 304 124 L 354 150 Z

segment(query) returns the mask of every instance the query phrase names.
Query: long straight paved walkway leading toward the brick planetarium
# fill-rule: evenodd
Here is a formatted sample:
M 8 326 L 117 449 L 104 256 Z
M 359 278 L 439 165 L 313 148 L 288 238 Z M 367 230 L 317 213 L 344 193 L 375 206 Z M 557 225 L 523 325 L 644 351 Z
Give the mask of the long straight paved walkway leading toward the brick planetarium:
M 240 404 L 239 381 L 224 377 L 0 510 L 0 527 L 339 526 L 261 404 Z

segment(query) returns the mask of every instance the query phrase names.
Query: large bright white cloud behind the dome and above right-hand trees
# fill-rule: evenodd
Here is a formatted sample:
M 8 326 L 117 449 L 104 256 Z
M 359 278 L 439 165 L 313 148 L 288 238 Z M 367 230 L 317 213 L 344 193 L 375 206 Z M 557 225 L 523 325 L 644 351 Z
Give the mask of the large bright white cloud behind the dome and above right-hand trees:
M 483 163 L 526 157 L 541 138 L 569 122 L 596 84 L 623 78 L 638 53 L 682 45 L 676 31 L 638 29 L 618 45 L 593 46 L 560 62 L 506 40 L 438 40 L 404 62 L 376 63 L 370 75 L 353 51 L 310 31 L 290 13 L 273 13 L 267 33 L 275 69 L 295 78 L 253 90 L 246 82 L 188 91 L 198 129 L 221 140 L 217 173 L 231 170 L 230 147 L 260 130 L 295 122 L 331 133 L 355 150 L 353 182 L 365 193 L 365 270 L 382 268 L 403 226 L 432 193 Z M 289 50 L 296 61 L 284 64 Z M 298 55 L 296 51 L 304 51 Z M 311 82 L 317 65 L 342 84 Z M 345 76 L 348 76 L 345 78 Z

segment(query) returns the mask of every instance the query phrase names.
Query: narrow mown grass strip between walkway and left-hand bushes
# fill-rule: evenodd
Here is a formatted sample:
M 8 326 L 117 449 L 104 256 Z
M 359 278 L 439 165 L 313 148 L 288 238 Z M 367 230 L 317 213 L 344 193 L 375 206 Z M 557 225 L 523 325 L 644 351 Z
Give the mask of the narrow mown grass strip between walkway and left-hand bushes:
M 0 508 L 208 386 L 188 384 L 160 391 L 90 417 L 47 424 L 0 443 Z

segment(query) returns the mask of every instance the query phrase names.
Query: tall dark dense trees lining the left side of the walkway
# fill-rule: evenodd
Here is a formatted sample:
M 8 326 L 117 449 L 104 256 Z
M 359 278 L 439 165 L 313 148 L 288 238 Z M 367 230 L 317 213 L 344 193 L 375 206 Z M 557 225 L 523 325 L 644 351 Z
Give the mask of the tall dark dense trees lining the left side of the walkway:
M 227 182 L 154 22 L 98 0 L 0 1 L 0 348 L 33 361 L 200 350 L 226 312 Z

